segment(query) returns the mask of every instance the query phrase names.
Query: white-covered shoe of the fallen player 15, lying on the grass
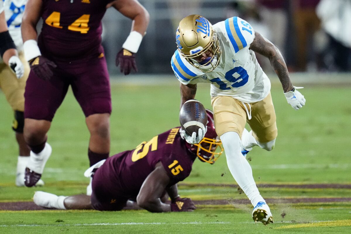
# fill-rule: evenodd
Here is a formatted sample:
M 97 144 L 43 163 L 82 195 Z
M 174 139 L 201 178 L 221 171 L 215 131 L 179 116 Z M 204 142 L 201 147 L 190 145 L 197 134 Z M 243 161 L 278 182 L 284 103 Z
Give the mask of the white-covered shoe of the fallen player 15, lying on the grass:
M 46 193 L 42 191 L 36 191 L 33 196 L 33 201 L 36 205 L 45 208 L 66 209 L 63 205 L 63 201 L 65 200 L 65 198 L 67 197 L 57 196 L 55 194 Z

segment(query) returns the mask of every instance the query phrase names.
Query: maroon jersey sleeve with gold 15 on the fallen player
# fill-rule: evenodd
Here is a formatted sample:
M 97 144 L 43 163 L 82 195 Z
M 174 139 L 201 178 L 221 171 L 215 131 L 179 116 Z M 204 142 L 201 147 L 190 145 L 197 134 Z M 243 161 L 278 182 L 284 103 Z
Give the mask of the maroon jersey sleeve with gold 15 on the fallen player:
M 161 158 L 160 161 L 170 177 L 169 186 L 183 181 L 190 175 L 192 162 L 188 161 L 184 156 L 170 154 Z

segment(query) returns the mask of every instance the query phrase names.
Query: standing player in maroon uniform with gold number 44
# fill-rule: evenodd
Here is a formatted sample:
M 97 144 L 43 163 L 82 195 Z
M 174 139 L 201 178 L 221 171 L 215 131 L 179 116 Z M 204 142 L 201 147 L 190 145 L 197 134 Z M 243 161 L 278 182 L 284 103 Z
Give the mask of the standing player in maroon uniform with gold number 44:
M 101 19 L 109 6 L 133 20 L 131 33 L 117 55 L 121 71 L 128 74 L 136 69 L 134 53 L 149 21 L 148 12 L 137 0 L 28 1 L 22 21 L 24 53 L 31 66 L 24 128 L 25 141 L 31 148 L 25 172 L 28 187 L 40 179 L 51 155 L 47 132 L 69 85 L 90 131 L 90 165 L 108 158 L 111 92 L 101 46 Z M 44 23 L 37 43 L 40 18 Z

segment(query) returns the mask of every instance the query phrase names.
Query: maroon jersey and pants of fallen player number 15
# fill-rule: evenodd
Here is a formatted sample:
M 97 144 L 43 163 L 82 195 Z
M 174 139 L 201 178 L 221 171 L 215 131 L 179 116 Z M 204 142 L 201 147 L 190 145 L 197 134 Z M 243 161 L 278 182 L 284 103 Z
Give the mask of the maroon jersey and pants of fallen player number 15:
M 104 183 L 104 187 L 115 195 L 136 197 L 158 162 L 162 163 L 171 179 L 169 186 L 184 180 L 189 176 L 197 156 L 186 148 L 179 128 L 172 128 L 147 142 L 141 142 L 134 150 L 108 158 L 95 173 L 99 182 L 94 181 L 94 176 L 93 183 Z

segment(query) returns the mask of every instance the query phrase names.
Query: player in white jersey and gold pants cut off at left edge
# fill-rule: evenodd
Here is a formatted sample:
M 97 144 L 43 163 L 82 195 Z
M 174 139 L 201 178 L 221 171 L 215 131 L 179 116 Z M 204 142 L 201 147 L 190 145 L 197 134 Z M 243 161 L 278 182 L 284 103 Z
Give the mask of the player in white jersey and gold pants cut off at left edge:
M 0 11 L 0 46 L 1 58 L 3 58 L 3 60 L 0 58 L 0 88 L 14 111 L 12 129 L 15 131 L 19 146 L 16 186 L 24 186 L 24 171 L 30 152 L 23 137 L 24 89 L 29 74 L 29 65 L 23 55 L 21 36 L 22 15 L 26 2 L 27 0 L 0 1 L 1 5 L 4 4 L 4 8 L 1 7 Z M 37 185 L 43 184 L 42 180 L 37 183 Z

